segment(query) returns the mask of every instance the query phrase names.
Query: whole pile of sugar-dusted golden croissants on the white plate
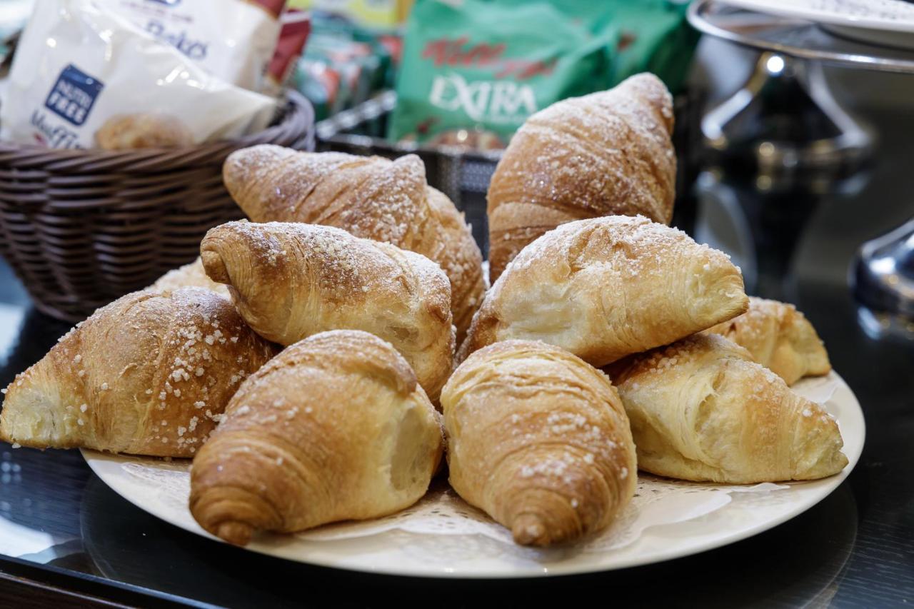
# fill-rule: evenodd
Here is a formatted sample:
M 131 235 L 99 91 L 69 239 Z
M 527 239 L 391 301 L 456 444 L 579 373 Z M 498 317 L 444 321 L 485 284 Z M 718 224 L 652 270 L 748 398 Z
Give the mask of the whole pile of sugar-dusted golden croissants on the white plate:
M 833 475 L 830 370 L 792 305 L 748 298 L 666 226 L 671 98 L 641 74 L 515 134 L 490 272 L 415 155 L 230 155 L 250 221 L 99 309 L 4 390 L 0 437 L 193 458 L 190 510 L 246 544 L 407 508 L 443 468 L 517 543 L 607 527 L 639 468 L 749 484 Z

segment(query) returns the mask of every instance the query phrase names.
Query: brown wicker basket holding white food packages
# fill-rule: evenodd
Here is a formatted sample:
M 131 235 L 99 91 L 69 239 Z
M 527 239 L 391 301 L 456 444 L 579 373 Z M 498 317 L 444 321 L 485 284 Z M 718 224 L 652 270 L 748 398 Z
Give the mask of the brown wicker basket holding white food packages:
M 243 214 L 222 163 L 253 144 L 314 149 L 297 93 L 259 134 L 173 150 L 49 150 L 0 142 L 0 254 L 42 312 L 78 321 L 192 261 L 207 230 Z

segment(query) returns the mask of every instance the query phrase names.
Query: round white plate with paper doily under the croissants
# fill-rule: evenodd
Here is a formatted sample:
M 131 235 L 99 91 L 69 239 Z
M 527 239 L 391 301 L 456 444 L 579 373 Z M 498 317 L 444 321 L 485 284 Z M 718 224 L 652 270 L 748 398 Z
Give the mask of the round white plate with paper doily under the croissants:
M 698 485 L 641 475 L 637 496 L 600 537 L 550 550 L 520 548 L 510 534 L 439 481 L 413 508 L 297 535 L 260 535 L 247 547 L 291 561 L 399 575 L 530 577 L 609 571 L 666 561 L 743 540 L 801 514 L 850 473 L 863 450 L 860 404 L 834 372 L 798 392 L 838 420 L 849 464 L 838 475 L 787 485 Z M 102 481 L 139 508 L 204 537 L 187 509 L 188 462 L 83 451 Z

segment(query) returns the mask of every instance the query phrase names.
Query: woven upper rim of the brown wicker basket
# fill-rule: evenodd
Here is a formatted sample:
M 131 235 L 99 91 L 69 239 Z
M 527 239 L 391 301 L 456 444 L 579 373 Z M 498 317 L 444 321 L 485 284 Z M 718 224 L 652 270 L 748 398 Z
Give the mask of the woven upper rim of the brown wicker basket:
M 48 148 L 38 144 L 19 144 L 0 140 L 0 166 L 15 159 L 16 166 L 40 168 L 54 166 L 55 169 L 66 169 L 69 164 L 74 166 L 117 167 L 122 170 L 129 166 L 132 171 L 142 171 L 143 168 L 158 168 L 170 166 L 175 163 L 206 163 L 208 159 L 224 157 L 229 151 L 256 144 L 270 144 L 274 142 L 293 141 L 302 134 L 302 123 L 314 122 L 314 110 L 298 91 L 286 91 L 278 108 L 282 112 L 282 120 L 271 124 L 256 134 L 243 135 L 238 138 L 218 140 L 206 144 L 197 144 L 183 148 L 143 148 L 138 150 L 101 150 L 98 148 L 71 149 Z

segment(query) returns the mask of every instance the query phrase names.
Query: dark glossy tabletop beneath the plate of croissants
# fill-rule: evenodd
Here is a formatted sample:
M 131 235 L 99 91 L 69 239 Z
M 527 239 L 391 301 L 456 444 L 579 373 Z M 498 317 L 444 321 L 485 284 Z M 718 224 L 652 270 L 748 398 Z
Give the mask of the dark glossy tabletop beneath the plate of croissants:
M 863 406 L 860 463 L 801 516 L 719 550 L 618 572 L 515 582 L 386 577 L 199 538 L 115 495 L 79 452 L 0 443 L 0 574 L 140 605 L 298 606 L 328 596 L 335 605 L 516 605 L 551 596 L 649 606 L 914 604 L 914 343 L 867 334 L 846 282 L 859 243 L 914 213 L 914 117 L 866 118 L 881 143 L 856 181 L 824 194 L 764 194 L 708 173 L 679 215 L 699 240 L 734 254 L 750 293 L 805 312 Z M 0 384 L 68 327 L 37 313 L 0 262 Z

